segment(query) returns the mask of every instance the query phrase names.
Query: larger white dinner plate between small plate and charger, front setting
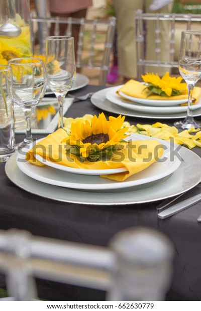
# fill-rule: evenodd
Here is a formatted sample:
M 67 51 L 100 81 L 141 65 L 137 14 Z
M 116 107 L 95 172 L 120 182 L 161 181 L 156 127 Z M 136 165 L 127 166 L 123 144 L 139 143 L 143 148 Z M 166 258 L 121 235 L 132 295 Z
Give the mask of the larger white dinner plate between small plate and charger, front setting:
M 131 134 L 133 140 L 153 139 L 139 134 Z M 17 165 L 19 169 L 33 179 L 43 183 L 56 185 L 60 187 L 81 189 L 81 190 L 107 190 L 122 189 L 150 183 L 162 179 L 173 173 L 180 165 L 180 159 L 170 154 L 170 143 L 161 139 L 157 139 L 164 145 L 164 154 L 158 162 L 153 163 L 147 169 L 134 174 L 123 182 L 117 182 L 100 176 L 78 175 L 64 172 L 48 166 L 39 167 L 25 160 L 26 151 L 30 146 L 23 148 L 17 156 Z

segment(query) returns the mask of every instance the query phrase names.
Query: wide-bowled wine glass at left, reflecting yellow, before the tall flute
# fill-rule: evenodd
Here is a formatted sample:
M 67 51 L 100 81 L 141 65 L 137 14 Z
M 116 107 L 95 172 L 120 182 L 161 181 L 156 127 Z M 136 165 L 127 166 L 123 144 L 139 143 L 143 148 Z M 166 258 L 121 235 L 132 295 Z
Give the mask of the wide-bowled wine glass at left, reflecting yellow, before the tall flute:
M 25 114 L 26 134 L 19 146 L 34 141 L 31 132 L 32 109 L 41 102 L 46 90 L 46 69 L 38 58 L 23 57 L 9 61 L 13 72 L 13 100 Z

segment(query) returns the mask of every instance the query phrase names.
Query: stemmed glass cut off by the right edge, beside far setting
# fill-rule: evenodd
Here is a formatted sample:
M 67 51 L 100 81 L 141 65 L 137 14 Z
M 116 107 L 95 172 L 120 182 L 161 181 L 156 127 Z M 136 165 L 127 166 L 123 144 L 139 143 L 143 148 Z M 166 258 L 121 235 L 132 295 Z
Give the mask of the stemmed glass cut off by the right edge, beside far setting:
M 178 68 L 187 84 L 188 106 L 185 119 L 174 122 L 174 125 L 179 129 L 201 128 L 201 123 L 195 121 L 192 116 L 192 92 L 201 77 L 201 32 L 190 30 L 181 32 Z

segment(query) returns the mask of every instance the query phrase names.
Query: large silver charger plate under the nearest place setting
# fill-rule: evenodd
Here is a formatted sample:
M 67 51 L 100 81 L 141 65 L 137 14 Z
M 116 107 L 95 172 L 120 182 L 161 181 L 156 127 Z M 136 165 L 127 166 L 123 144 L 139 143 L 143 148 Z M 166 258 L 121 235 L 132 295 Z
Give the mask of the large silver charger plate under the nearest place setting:
M 18 169 L 17 153 L 7 161 L 5 171 L 8 178 L 21 189 L 56 201 L 113 206 L 147 203 L 179 195 L 200 182 L 201 159 L 185 147 L 178 148 L 182 162 L 174 173 L 155 182 L 117 190 L 82 191 L 36 181 Z

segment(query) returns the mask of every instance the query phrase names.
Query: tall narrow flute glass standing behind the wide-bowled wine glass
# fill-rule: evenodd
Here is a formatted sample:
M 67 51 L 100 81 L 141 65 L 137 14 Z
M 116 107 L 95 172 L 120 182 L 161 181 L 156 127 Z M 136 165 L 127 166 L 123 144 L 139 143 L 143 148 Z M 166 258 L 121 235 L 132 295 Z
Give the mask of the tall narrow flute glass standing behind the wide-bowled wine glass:
M 63 103 L 76 75 L 74 38 L 50 36 L 46 38 L 47 84 L 59 104 L 60 128 L 63 128 Z

